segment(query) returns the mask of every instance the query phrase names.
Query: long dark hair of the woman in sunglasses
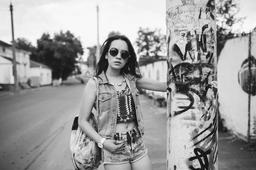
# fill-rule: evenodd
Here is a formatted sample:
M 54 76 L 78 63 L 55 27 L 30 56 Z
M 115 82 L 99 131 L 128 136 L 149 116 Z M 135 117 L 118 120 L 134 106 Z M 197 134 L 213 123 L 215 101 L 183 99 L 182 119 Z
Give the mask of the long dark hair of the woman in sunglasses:
M 123 68 L 121 68 L 121 72 L 124 72 L 125 74 L 131 73 L 136 77 L 142 77 L 134 48 L 131 45 L 131 41 L 124 35 L 114 35 L 113 37 L 108 37 L 107 40 L 105 40 L 105 42 L 103 43 L 102 48 L 101 48 L 101 55 L 99 58 L 99 62 L 96 65 L 96 75 L 95 76 L 98 77 L 99 74 L 102 73 L 102 71 L 104 71 L 104 72 L 107 71 L 108 60 L 105 58 L 105 56 L 108 53 L 111 42 L 113 42 L 114 40 L 125 41 L 126 44 L 128 45 L 128 51 L 131 55 L 131 57 L 128 58 L 128 62 L 125 64 L 125 66 Z

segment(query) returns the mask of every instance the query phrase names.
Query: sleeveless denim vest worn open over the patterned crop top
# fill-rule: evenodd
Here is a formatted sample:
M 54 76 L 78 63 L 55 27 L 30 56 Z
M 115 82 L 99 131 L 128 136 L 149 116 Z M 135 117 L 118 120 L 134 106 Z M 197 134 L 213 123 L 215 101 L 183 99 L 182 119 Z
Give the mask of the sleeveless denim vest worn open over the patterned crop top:
M 136 88 L 136 77 L 131 74 L 122 73 L 131 91 L 136 109 L 137 123 L 140 134 L 144 134 L 143 116 L 140 109 L 139 91 Z M 104 71 L 99 75 L 97 84 L 96 108 L 99 115 L 98 133 L 107 139 L 113 139 L 116 133 L 116 120 L 118 112 L 117 92 L 113 85 L 108 84 Z M 94 80 L 95 81 L 95 80 Z M 96 82 L 96 83 L 97 83 Z

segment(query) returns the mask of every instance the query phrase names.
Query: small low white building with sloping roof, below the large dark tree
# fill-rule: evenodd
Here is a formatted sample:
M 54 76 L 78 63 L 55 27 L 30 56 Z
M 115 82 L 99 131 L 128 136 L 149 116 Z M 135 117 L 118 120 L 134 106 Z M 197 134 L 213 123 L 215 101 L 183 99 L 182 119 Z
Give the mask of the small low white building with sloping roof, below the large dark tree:
M 52 69 L 47 65 L 30 60 L 30 77 L 33 86 L 52 84 Z

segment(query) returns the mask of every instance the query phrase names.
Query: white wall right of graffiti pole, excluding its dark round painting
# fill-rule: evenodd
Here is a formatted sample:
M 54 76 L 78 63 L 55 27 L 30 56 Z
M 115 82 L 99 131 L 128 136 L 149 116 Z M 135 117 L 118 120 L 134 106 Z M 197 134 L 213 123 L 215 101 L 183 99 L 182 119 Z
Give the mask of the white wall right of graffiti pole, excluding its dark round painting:
M 242 62 L 248 57 L 248 45 L 248 36 L 228 40 L 218 59 L 219 113 L 227 128 L 244 140 L 247 138 L 248 129 L 248 94 L 239 85 L 238 73 Z M 253 48 L 256 48 L 255 45 Z M 252 55 L 256 57 L 255 50 Z M 251 133 L 256 116 L 255 105 L 256 96 L 252 96 Z

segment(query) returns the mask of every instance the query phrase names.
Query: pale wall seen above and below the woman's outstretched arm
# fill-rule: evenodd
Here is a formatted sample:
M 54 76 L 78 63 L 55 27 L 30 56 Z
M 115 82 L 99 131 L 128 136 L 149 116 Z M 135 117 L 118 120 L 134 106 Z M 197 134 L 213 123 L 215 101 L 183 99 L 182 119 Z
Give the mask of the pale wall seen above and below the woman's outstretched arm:
M 167 61 L 157 61 L 148 65 L 140 66 L 140 69 L 145 77 L 150 77 L 151 79 L 156 79 L 160 82 L 166 82 L 167 81 Z M 159 91 L 149 91 L 144 90 L 145 93 L 153 93 L 154 95 L 160 95 L 163 96 L 165 99 L 167 99 L 167 93 L 159 92 Z

